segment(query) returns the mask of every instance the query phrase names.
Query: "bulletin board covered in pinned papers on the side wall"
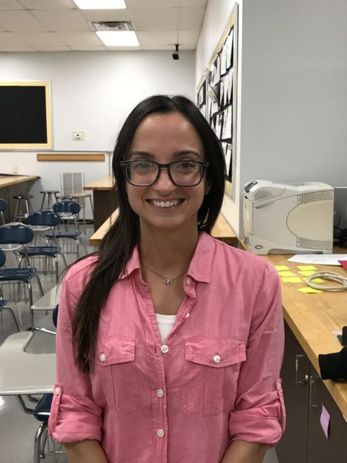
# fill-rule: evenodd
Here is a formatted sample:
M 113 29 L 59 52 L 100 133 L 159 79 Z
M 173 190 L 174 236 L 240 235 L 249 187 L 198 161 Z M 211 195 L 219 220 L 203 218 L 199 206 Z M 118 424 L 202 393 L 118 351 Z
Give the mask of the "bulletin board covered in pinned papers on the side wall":
M 226 193 L 234 199 L 236 167 L 236 88 L 238 4 L 197 86 L 197 105 L 221 141 L 226 161 Z

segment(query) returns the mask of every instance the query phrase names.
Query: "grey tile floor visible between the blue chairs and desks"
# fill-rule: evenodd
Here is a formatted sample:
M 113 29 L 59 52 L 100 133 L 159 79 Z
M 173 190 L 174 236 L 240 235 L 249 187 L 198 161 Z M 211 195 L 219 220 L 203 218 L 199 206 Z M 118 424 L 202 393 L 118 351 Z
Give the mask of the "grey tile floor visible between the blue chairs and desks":
M 85 249 L 81 251 L 81 255 L 96 250 L 95 247 L 89 246 L 89 237 L 94 233 L 94 226 L 87 225 L 86 235 L 82 234 L 82 239 L 85 244 Z M 65 254 L 67 263 L 72 263 L 76 260 L 76 254 Z M 16 266 L 14 256 L 12 253 L 7 253 L 7 267 L 11 265 Z M 42 275 L 39 274 L 43 290 L 46 293 L 55 284 L 55 278 L 52 274 Z M 40 298 L 40 293 L 36 282 L 32 284 L 33 287 L 33 300 Z M 15 316 L 20 324 L 20 329 L 25 330 L 30 326 L 30 316 L 28 304 L 9 303 L 15 313 Z M 34 325 L 54 329 L 51 312 L 45 315 L 44 312 L 34 313 Z M 6 339 L 7 336 L 15 332 L 12 320 L 8 313 L 0 313 L 0 344 Z M 35 353 L 49 353 L 54 352 L 54 336 L 36 332 L 32 342 L 30 343 L 27 351 Z M 28 402 L 28 406 L 30 402 Z M 40 422 L 35 420 L 32 415 L 22 412 L 15 397 L 0 396 L 0 461 L 1 463 L 32 463 L 33 462 L 33 442 L 34 435 L 38 429 Z M 58 447 L 58 446 L 57 446 Z M 56 450 L 58 448 L 56 447 Z M 59 454 L 58 463 L 67 463 L 65 454 Z M 52 453 L 46 452 L 46 457 L 42 462 L 52 463 Z M 140 462 L 139 462 L 140 463 Z M 267 452 L 263 463 L 278 463 L 275 449 Z

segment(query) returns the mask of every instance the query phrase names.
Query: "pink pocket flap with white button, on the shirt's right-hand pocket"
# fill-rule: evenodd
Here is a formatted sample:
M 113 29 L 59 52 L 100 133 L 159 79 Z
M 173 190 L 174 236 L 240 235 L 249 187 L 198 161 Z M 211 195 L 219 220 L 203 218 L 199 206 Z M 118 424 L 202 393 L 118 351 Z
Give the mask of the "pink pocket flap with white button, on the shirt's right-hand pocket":
M 246 360 L 246 344 L 241 339 L 195 337 L 186 340 L 186 360 L 221 368 Z

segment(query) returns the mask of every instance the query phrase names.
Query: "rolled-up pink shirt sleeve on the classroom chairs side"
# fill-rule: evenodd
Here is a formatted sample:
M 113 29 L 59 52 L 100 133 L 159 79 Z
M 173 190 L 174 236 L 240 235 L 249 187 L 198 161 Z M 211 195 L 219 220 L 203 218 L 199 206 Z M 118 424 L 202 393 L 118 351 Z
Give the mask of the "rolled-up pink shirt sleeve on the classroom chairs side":
M 93 399 L 87 373 L 77 367 L 72 351 L 71 315 L 85 283 L 85 270 L 70 269 L 62 282 L 57 326 L 57 383 L 48 421 L 49 435 L 58 442 L 101 441 L 102 409 Z

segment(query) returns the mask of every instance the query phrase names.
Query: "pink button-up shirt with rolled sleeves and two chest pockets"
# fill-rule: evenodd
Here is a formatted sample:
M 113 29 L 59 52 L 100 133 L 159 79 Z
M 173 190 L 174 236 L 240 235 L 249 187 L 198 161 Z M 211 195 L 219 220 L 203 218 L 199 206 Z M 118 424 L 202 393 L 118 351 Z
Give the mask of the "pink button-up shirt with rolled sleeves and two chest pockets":
M 284 333 L 277 272 L 201 233 L 186 296 L 162 345 L 138 249 L 102 307 L 95 371 L 82 373 L 70 318 L 87 258 L 65 276 L 49 433 L 97 439 L 109 463 L 218 463 L 234 439 L 280 439 Z

